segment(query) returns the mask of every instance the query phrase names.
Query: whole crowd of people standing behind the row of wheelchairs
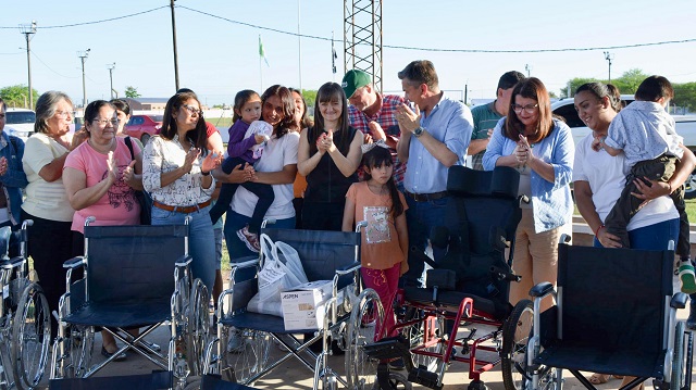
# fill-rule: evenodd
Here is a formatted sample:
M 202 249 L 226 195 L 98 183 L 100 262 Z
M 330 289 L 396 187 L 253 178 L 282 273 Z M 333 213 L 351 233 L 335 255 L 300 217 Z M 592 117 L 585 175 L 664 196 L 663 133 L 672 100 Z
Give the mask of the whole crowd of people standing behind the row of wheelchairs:
M 359 70 L 340 85 L 322 85 L 313 121 L 298 90 L 239 91 L 226 151 L 188 89 L 167 101 L 160 135 L 145 146 L 122 131 L 130 115 L 125 101 L 89 103 L 85 126 L 72 134 L 71 99 L 46 92 L 26 144 L 0 134 L 0 224 L 16 229 L 34 219 L 28 253 L 53 311 L 65 288 L 62 263 L 83 254 L 85 219 L 138 224 L 137 191 L 151 198 L 152 225 L 190 217 L 192 274 L 213 297 L 222 290 L 223 234 L 234 262 L 259 251 L 263 218 L 278 228 L 344 231 L 368 221 L 361 273 L 388 328 L 397 288 L 423 284 L 424 265 L 409 249 L 425 251 L 431 229 L 449 221 L 447 171 L 471 155 L 476 169 L 517 169 L 519 194 L 530 200 L 513 252 L 522 281 L 512 284 L 510 303 L 529 298 L 537 282 L 556 281 L 556 243 L 573 203 L 597 247 L 663 250 L 678 242 L 682 289 L 696 292 L 683 200 L 696 158 L 664 112 L 673 97 L 666 78 L 646 79 L 625 109 L 612 85 L 577 88 L 575 109 L 593 134 L 574 144 L 538 78 L 507 72 L 495 101 L 470 110 L 440 89 L 430 61 L 413 61 L 397 76 L 403 97 L 382 95 Z M 1 100 L 0 108 L 1 130 Z M 444 254 L 433 248 L 435 262 Z M 688 325 L 696 327 L 694 300 Z M 115 341 L 103 339 L 110 355 Z

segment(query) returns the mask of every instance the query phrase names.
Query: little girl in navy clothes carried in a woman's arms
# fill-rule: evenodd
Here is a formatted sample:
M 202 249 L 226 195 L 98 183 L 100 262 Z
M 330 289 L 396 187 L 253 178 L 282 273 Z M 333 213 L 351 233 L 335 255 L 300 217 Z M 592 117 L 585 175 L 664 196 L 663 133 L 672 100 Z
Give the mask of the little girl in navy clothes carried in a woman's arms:
M 233 124 L 228 130 L 228 156 L 222 163 L 222 171 L 225 174 L 229 174 L 237 165 L 239 165 L 240 169 L 244 169 L 247 164 L 253 166 L 253 163 L 261 158 L 261 153 L 263 152 L 263 142 L 268 139 L 270 133 L 273 131 L 271 125 L 259 121 L 259 118 L 261 118 L 261 98 L 259 97 L 259 93 L 249 89 L 239 91 L 237 96 L 235 96 L 234 111 L 235 114 L 232 118 Z M 249 126 L 254 121 L 257 121 L 257 123 L 254 123 L 253 127 L 257 127 L 257 125 L 259 128 L 268 127 L 270 128 L 269 134 L 264 135 L 263 131 L 249 131 Z M 210 210 L 210 218 L 214 224 L 222 214 L 227 211 L 229 202 L 232 201 L 238 186 L 243 186 L 259 197 L 259 201 L 257 202 L 257 206 L 253 209 L 253 214 L 251 215 L 249 225 L 237 231 L 237 236 L 250 251 L 259 252 L 259 230 L 261 229 L 261 222 L 275 199 L 271 185 L 252 181 L 243 184 L 223 184 L 220 189 L 217 202 Z

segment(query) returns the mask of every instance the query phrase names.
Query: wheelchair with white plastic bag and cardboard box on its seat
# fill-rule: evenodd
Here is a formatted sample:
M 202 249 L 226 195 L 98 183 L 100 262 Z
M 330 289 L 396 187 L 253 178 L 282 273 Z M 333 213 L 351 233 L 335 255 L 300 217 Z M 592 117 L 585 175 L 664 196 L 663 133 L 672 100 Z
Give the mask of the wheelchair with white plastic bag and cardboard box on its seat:
M 362 226 L 358 224 L 356 230 Z M 264 257 L 261 253 L 259 257 L 240 259 L 233 264 L 229 288 L 219 299 L 217 336 L 206 349 L 206 373 L 251 385 L 295 357 L 313 373 L 313 389 L 335 389 L 339 383 L 348 389 L 372 389 L 376 364 L 365 358 L 361 347 L 375 340 L 380 328 L 376 324 L 382 324 L 384 310 L 374 290 L 361 288 L 358 231 L 263 227 L 261 232 L 274 242 L 283 241 L 297 250 L 309 281 L 332 281 L 332 297 L 323 306 L 323 324 L 319 329 L 286 330 L 282 317 L 248 312 L 247 304 L 258 292 L 257 275 Z M 300 342 L 297 334 L 314 336 Z M 234 350 L 227 349 L 231 337 L 239 340 Z M 273 340 L 288 351 L 275 362 L 270 361 L 269 353 Z M 320 340 L 322 351 L 316 354 L 309 347 Z M 345 377 L 327 364 L 327 356 L 339 350 L 346 352 Z

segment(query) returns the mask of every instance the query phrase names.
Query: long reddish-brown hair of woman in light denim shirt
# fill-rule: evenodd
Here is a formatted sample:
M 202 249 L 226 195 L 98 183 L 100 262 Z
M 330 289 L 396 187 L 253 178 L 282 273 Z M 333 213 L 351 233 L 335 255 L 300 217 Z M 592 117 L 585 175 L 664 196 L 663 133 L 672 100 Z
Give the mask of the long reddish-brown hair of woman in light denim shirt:
M 554 130 L 554 113 L 551 112 L 551 100 L 548 96 L 548 90 L 542 80 L 536 77 L 530 77 L 514 86 L 510 97 L 510 104 L 514 104 L 514 98 L 518 95 L 523 98 L 534 99 L 538 104 L 539 114 L 536 131 L 527 136 L 530 143 L 536 143 Z M 512 111 L 512 108 L 510 108 L 510 111 Z M 524 134 L 524 125 L 520 122 L 514 111 L 505 119 L 502 134 L 515 142 L 520 140 L 520 135 Z

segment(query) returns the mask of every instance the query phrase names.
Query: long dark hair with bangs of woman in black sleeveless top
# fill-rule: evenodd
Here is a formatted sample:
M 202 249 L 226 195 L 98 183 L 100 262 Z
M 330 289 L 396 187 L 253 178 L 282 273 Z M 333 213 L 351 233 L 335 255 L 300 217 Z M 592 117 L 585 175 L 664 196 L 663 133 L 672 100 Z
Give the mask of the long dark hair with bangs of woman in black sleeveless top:
M 324 133 L 324 116 L 320 110 L 320 103 L 341 102 L 341 113 L 338 119 L 338 128 L 334 129 L 334 140 L 336 147 L 343 155 L 348 154 L 350 150 L 350 142 L 352 137 L 348 128 L 350 127 L 350 121 L 348 119 L 348 99 L 346 99 L 346 92 L 336 83 L 326 83 L 316 91 L 316 101 L 314 103 L 314 126 L 310 127 L 307 133 L 307 140 L 309 141 L 310 155 L 316 153 L 316 139 Z M 338 137 L 336 137 L 338 136 Z

